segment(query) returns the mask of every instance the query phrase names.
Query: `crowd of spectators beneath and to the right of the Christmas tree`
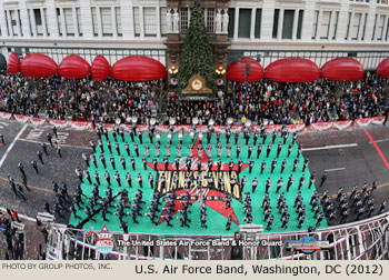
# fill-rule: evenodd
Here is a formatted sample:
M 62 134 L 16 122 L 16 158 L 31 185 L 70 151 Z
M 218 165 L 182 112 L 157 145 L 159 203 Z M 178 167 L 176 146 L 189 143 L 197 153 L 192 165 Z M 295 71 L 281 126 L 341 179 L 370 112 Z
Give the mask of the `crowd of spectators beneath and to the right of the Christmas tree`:
M 181 123 L 198 117 L 200 123 L 215 118 L 225 123 L 226 117 L 242 117 L 255 122 L 292 124 L 323 121 L 355 120 L 387 116 L 389 110 L 388 84 L 385 79 L 367 74 L 356 82 L 320 79 L 306 83 L 258 81 L 231 82 L 231 94 L 220 96 L 215 102 L 194 104 L 169 99 L 168 114 Z

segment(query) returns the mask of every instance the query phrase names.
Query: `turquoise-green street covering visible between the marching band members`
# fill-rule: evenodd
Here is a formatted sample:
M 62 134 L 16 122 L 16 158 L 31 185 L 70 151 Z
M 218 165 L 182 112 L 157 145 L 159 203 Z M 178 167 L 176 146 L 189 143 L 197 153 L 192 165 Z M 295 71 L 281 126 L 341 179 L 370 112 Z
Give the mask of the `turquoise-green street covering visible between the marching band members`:
M 137 158 L 134 150 L 132 148 L 133 143 L 131 141 L 131 138 L 129 134 L 126 134 L 124 140 L 127 142 L 130 143 L 130 150 L 131 150 L 131 156 L 133 156 L 136 158 L 136 166 L 137 166 L 137 170 L 133 171 L 131 168 L 131 163 L 130 163 L 130 158 L 127 156 L 127 152 L 124 150 L 124 142 L 122 141 L 121 137 L 118 136 L 117 140 L 119 141 L 120 144 L 120 151 L 121 154 L 124 156 L 126 161 L 127 161 L 127 170 L 123 170 L 121 163 L 120 163 L 120 156 L 117 153 L 117 151 L 114 150 L 114 139 L 112 137 L 111 133 L 109 133 L 109 139 L 111 141 L 111 147 L 112 147 L 112 153 L 113 157 L 116 159 L 116 170 L 110 169 L 111 164 L 109 161 L 110 158 L 110 152 L 106 146 L 106 138 L 102 137 L 103 139 L 103 143 L 104 143 L 104 157 L 106 157 L 106 161 L 107 161 L 107 168 L 108 171 L 111 174 L 111 188 L 113 189 L 113 196 L 119 192 L 122 188 L 126 188 L 129 191 L 129 197 L 130 199 L 134 197 L 136 191 L 139 188 L 139 183 L 136 181 L 136 178 L 138 177 L 138 173 L 140 172 L 142 178 L 143 178 L 143 201 L 146 201 L 146 204 L 142 204 L 142 211 L 141 211 L 141 216 L 139 216 L 137 218 L 137 220 L 139 221 L 138 224 L 132 223 L 132 219 L 131 217 L 126 217 L 124 221 L 128 221 L 129 224 L 129 232 L 139 232 L 139 233 L 159 233 L 159 234 L 232 234 L 233 232 L 238 231 L 238 224 L 233 223 L 231 224 L 231 229 L 229 231 L 226 230 L 226 223 L 227 223 L 227 218 L 225 216 L 222 216 L 220 212 L 223 211 L 225 206 L 221 202 L 210 202 L 210 203 L 215 203 L 213 207 L 207 207 L 207 229 L 201 228 L 200 224 L 200 204 L 198 201 L 193 202 L 190 207 L 189 210 L 191 211 L 189 213 L 189 219 L 191 219 L 190 228 L 186 228 L 186 227 L 180 227 L 181 226 L 181 221 L 177 219 L 177 217 L 180 217 L 179 213 L 174 214 L 171 220 L 171 223 L 173 224 L 173 228 L 170 228 L 166 224 L 166 222 L 161 222 L 159 226 L 154 226 L 153 223 L 151 223 L 150 218 L 148 216 L 146 216 L 144 213 L 149 212 L 149 210 L 147 209 L 147 207 L 150 206 L 150 200 L 151 194 L 153 193 L 153 189 L 150 188 L 149 182 L 148 182 L 148 174 L 149 172 L 152 172 L 153 178 L 154 178 L 154 182 L 156 182 L 156 178 L 157 178 L 157 171 L 154 171 L 151 167 L 147 167 L 147 170 L 144 171 L 143 169 L 143 164 L 142 164 L 142 157 L 144 157 L 144 150 L 142 149 L 142 144 L 140 144 L 138 137 L 134 138 L 136 142 L 138 142 L 139 144 L 139 151 L 140 151 L 140 157 Z M 272 144 L 272 150 L 271 153 L 269 156 L 269 158 L 266 158 L 266 150 L 267 150 L 267 144 L 271 143 L 272 137 L 268 136 L 267 141 L 265 144 L 262 144 L 262 152 L 259 159 L 257 159 L 257 147 L 253 146 L 253 151 L 251 154 L 251 158 L 255 160 L 255 167 L 251 173 L 249 173 L 249 167 L 247 167 L 245 170 L 242 170 L 239 173 L 239 180 L 241 180 L 241 178 L 243 176 L 247 177 L 247 184 L 246 188 L 242 190 L 242 194 L 245 197 L 246 192 L 251 192 L 251 181 L 257 178 L 259 181 L 259 184 L 257 187 L 257 190 L 255 193 L 251 193 L 251 206 L 252 206 L 252 217 L 253 217 L 253 221 L 252 223 L 256 224 L 263 224 L 265 231 L 269 232 L 266 227 L 267 227 L 267 222 L 263 222 L 263 211 L 260 208 L 262 204 L 262 198 L 265 196 L 265 186 L 266 186 L 266 181 L 268 178 L 271 179 L 271 188 L 270 188 L 270 201 L 271 201 L 271 207 L 272 207 L 272 214 L 275 214 L 275 221 L 272 223 L 271 230 L 270 232 L 285 232 L 285 231 L 295 231 L 295 230 L 307 230 L 308 227 L 316 224 L 316 219 L 313 218 L 313 213 L 311 212 L 311 206 L 309 204 L 310 202 L 310 198 L 312 192 L 316 190 L 315 187 L 311 187 L 311 189 L 308 189 L 308 184 L 309 184 L 309 178 L 310 178 L 310 173 L 308 168 L 305 170 L 305 172 L 302 172 L 302 166 L 303 166 L 303 157 L 302 154 L 300 154 L 299 157 L 299 167 L 296 170 L 296 172 L 292 172 L 292 166 L 293 166 L 293 160 L 297 156 L 297 151 L 298 151 L 298 146 L 297 143 L 293 144 L 293 150 L 290 154 L 289 158 L 287 158 L 287 153 L 288 153 L 288 146 L 289 143 L 292 141 L 292 137 L 289 136 L 287 143 L 283 146 L 282 151 L 278 158 L 278 166 L 275 170 L 273 173 L 270 173 L 270 169 L 271 169 L 271 161 L 273 158 L 276 158 L 277 156 L 277 146 L 278 142 L 281 141 L 283 142 L 283 139 L 281 137 L 277 137 L 275 144 Z M 154 148 L 153 144 L 150 143 L 150 139 L 148 137 L 148 134 L 143 134 L 143 144 L 148 142 L 150 144 L 150 157 L 147 158 L 148 162 L 152 162 L 152 158 L 156 156 L 154 152 Z M 167 139 L 167 134 L 162 134 L 161 136 L 161 149 L 160 149 L 160 156 L 159 158 L 157 158 L 157 161 L 160 163 L 163 160 L 163 157 L 166 156 L 166 150 L 164 150 L 164 144 L 168 142 Z M 177 156 L 177 151 L 176 151 L 176 144 L 179 142 L 178 140 L 178 134 L 173 134 L 173 139 L 172 139 L 172 144 L 171 144 L 171 154 L 169 157 L 169 162 L 173 163 L 173 160 Z M 259 137 L 258 139 L 258 143 L 262 143 L 262 139 Z M 156 143 L 156 140 L 154 140 Z M 188 144 L 191 143 L 191 139 L 189 137 L 189 134 L 184 134 L 183 137 L 183 143 L 182 143 L 182 154 L 181 158 L 184 158 L 188 156 L 188 150 L 187 147 Z M 227 151 L 226 151 L 226 137 L 221 136 L 221 143 L 222 143 L 222 157 L 220 158 L 222 163 L 228 163 L 230 162 L 231 158 L 227 157 Z M 236 146 L 235 146 L 235 139 L 233 136 L 230 138 L 230 143 L 232 144 L 232 149 L 231 149 L 231 157 L 235 161 L 235 163 L 238 163 L 238 160 L 236 158 Z M 253 139 L 252 136 L 250 138 L 249 144 L 253 143 Z M 202 140 L 202 144 L 203 148 L 206 149 L 208 146 L 206 136 Z M 217 138 L 216 134 L 212 136 L 212 140 L 211 140 L 211 144 L 213 147 L 212 150 L 212 154 L 211 154 L 211 159 L 213 162 L 216 162 L 219 158 L 217 157 L 217 150 L 216 150 L 216 144 L 217 144 Z M 248 159 L 248 146 L 246 146 L 246 140 L 243 139 L 243 134 L 240 134 L 239 138 L 239 144 L 241 146 L 241 152 L 240 152 L 240 158 L 242 159 L 243 163 L 249 163 L 250 159 Z M 207 151 L 207 149 L 206 149 Z M 92 177 L 92 174 L 96 172 L 96 170 L 99 172 L 100 176 L 100 187 L 99 187 L 99 191 L 100 191 L 100 196 L 103 197 L 104 196 L 104 190 L 107 189 L 107 182 L 103 179 L 104 178 L 104 172 L 106 169 L 103 168 L 102 163 L 99 160 L 99 156 L 100 156 L 100 148 L 97 148 L 97 152 L 94 153 L 94 156 L 97 157 L 97 161 L 98 161 L 98 168 L 94 168 L 94 164 L 92 162 L 90 162 L 90 167 L 89 167 L 89 172 Z M 208 157 L 210 154 L 207 154 Z M 281 169 L 281 162 L 283 159 L 287 159 L 287 167 L 283 171 L 283 173 L 280 173 L 280 169 Z M 263 174 L 260 174 L 260 168 L 261 168 L 261 162 L 266 160 L 267 167 L 266 170 L 263 172 Z M 117 181 L 113 179 L 113 174 L 116 173 L 116 171 L 119 171 L 120 176 L 121 176 L 121 182 L 122 182 L 122 188 L 120 188 L 117 184 Z M 126 173 L 130 172 L 131 173 L 131 178 L 132 178 L 132 189 L 128 188 L 124 177 Z M 223 174 L 226 176 L 223 171 L 221 171 Z M 227 171 L 228 173 L 228 171 Z M 286 192 L 286 188 L 287 188 L 287 182 L 288 182 L 288 178 L 290 174 L 293 174 L 295 177 L 295 182 L 292 184 L 292 187 L 290 188 L 289 192 Z M 293 203 L 295 203 L 295 197 L 298 193 L 298 186 L 299 186 L 299 179 L 300 177 L 305 174 L 306 176 L 306 183 L 302 186 L 301 188 L 301 192 L 302 192 L 302 199 L 303 199 L 303 203 L 306 204 L 306 220 L 302 224 L 302 228 L 299 229 L 298 226 L 298 220 L 297 220 L 297 213 L 296 213 L 296 208 L 293 208 Z M 219 173 L 220 176 L 220 173 Z M 289 207 L 289 213 L 290 213 L 290 220 L 288 223 L 288 228 L 287 229 L 281 229 L 281 214 L 278 213 L 278 209 L 277 209 L 277 198 L 279 196 L 279 193 L 276 193 L 276 189 L 277 189 L 277 181 L 283 177 L 283 187 L 281 188 L 280 192 L 285 192 L 286 193 L 286 199 L 287 199 L 287 204 Z M 92 181 L 94 183 L 94 179 L 92 178 Z M 92 191 L 92 187 L 89 184 L 88 180 L 84 180 L 84 182 L 81 184 L 82 191 L 84 194 L 87 194 L 87 197 L 91 193 Z M 83 202 L 87 202 L 87 199 L 83 198 Z M 103 224 L 106 224 L 108 227 L 108 229 L 110 231 L 122 231 L 122 229 L 120 228 L 120 222 L 118 217 L 114 214 L 116 207 L 114 204 L 119 203 L 119 198 L 113 202 L 113 207 L 110 208 L 109 211 L 111 211 L 111 214 L 107 214 L 107 218 L 109 219 L 108 222 L 104 222 L 102 220 L 102 217 L 100 214 L 97 214 L 96 217 L 93 217 L 97 221 L 90 221 L 88 222 L 83 228 L 84 229 L 90 229 L 93 228 L 94 230 L 100 230 Z M 160 209 L 163 208 L 166 204 L 164 201 L 162 201 L 161 206 L 159 207 Z M 232 203 L 231 207 L 239 220 L 240 224 L 245 224 L 245 209 L 243 209 L 243 203 L 237 199 L 232 199 Z M 215 210 L 217 209 L 217 210 Z M 127 209 L 127 212 L 130 212 L 130 209 Z M 81 217 L 81 219 L 84 219 L 87 216 L 83 212 L 83 209 L 78 210 L 77 214 L 79 217 Z M 158 214 L 159 217 L 160 214 Z M 158 220 L 158 218 L 156 219 L 156 221 Z M 73 216 L 71 216 L 70 218 L 70 223 L 73 226 L 77 226 L 80 222 L 80 219 L 74 218 Z M 319 226 L 319 228 L 326 228 L 327 222 L 326 219 L 323 219 Z

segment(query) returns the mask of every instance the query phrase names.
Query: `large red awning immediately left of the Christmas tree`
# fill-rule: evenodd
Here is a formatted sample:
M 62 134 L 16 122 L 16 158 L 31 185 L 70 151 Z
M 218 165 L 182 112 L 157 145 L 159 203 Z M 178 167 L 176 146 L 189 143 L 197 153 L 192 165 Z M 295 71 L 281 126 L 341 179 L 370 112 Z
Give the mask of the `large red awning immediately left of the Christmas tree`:
M 124 81 L 152 81 L 166 78 L 164 66 L 148 57 L 127 57 L 118 60 L 111 69 L 111 77 Z

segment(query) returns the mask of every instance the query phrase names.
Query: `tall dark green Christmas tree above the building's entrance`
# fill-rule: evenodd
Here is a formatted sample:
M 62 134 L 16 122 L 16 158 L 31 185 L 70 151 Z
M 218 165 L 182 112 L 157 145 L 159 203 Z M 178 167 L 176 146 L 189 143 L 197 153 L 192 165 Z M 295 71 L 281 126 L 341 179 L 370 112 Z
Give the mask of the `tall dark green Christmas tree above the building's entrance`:
M 205 12 L 200 0 L 194 0 L 194 7 L 190 13 L 190 26 L 182 46 L 180 67 L 177 74 L 178 91 L 181 92 L 188 86 L 189 79 L 200 74 L 216 93 L 216 72 L 213 54 L 208 41 L 205 24 Z

